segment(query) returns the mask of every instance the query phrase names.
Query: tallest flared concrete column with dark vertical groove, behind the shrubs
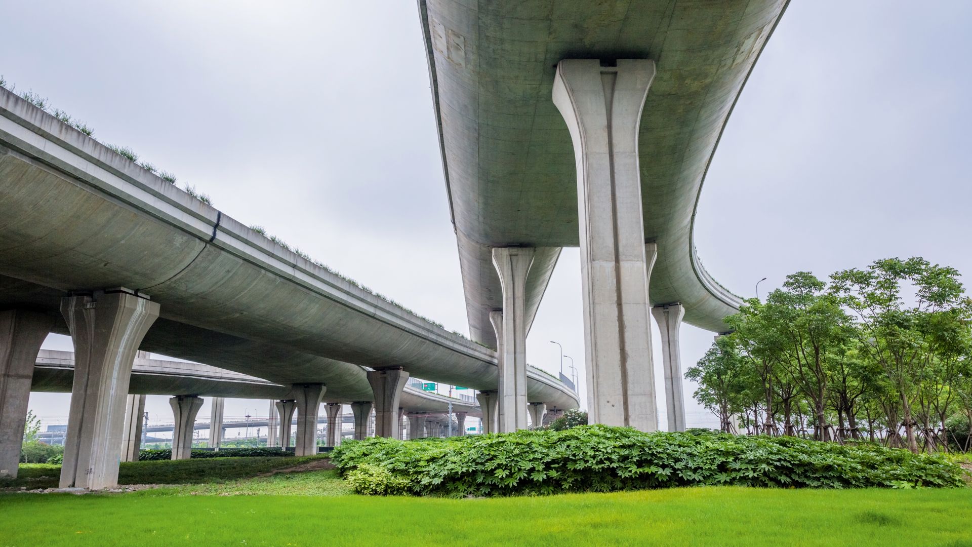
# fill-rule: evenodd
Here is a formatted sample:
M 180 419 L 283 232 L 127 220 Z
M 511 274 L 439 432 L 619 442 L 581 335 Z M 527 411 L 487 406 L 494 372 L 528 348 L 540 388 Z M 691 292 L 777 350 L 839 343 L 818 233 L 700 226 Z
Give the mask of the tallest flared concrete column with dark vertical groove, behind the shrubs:
M 658 428 L 638 131 L 654 62 L 558 63 L 553 102 L 577 171 L 587 404 L 592 423 Z

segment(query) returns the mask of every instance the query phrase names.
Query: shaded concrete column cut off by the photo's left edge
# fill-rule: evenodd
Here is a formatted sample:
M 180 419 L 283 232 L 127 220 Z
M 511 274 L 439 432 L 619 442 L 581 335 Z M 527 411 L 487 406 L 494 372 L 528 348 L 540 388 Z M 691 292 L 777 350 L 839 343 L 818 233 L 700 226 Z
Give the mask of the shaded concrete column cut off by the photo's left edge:
M 35 311 L 0 311 L 0 477 L 17 477 L 37 352 L 53 324 Z

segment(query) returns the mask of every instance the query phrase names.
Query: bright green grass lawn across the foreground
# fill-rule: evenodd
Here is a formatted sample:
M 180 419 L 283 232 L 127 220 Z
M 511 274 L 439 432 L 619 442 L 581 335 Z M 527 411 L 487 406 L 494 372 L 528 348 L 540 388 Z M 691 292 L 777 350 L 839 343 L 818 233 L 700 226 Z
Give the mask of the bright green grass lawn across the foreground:
M 488 499 L 368 497 L 349 494 L 333 470 L 241 478 L 247 476 L 244 473 L 252 477 L 309 458 L 269 458 L 274 463 L 260 461 L 262 458 L 228 459 L 129 465 L 134 476 L 166 473 L 165 479 L 136 482 L 172 484 L 175 472 L 187 483 L 164 489 L 86 495 L 0 494 L 0 547 L 972 547 L 972 489 L 703 487 Z M 206 474 L 205 482 L 191 484 L 191 477 L 206 469 L 211 473 Z

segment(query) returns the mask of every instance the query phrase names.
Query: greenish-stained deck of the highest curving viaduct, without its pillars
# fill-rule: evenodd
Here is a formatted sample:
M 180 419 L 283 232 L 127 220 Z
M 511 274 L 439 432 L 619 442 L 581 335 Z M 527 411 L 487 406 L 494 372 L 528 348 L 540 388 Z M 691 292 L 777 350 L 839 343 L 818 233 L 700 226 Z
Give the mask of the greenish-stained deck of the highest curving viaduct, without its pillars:
M 565 58 L 649 58 L 642 111 L 644 237 L 662 253 L 651 302 L 716 332 L 739 299 L 698 261 L 692 225 L 722 128 L 786 0 L 419 0 L 470 332 L 493 346 L 493 247 L 579 244 L 571 137 L 550 100 Z M 529 291 L 528 291 L 529 292 Z M 538 299 L 536 289 L 530 298 Z

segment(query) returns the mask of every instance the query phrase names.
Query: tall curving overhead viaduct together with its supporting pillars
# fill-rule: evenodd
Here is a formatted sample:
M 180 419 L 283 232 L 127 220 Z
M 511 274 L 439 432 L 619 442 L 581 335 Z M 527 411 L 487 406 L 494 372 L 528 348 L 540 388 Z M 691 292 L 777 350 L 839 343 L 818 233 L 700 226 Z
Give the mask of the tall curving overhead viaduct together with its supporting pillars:
M 529 333 L 580 247 L 590 419 L 684 428 L 677 333 L 742 299 L 696 254 L 716 144 L 786 0 L 418 0 L 473 340 L 499 351 L 501 428 L 526 423 Z

